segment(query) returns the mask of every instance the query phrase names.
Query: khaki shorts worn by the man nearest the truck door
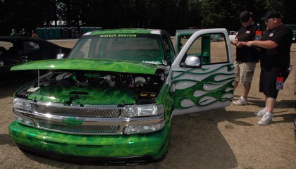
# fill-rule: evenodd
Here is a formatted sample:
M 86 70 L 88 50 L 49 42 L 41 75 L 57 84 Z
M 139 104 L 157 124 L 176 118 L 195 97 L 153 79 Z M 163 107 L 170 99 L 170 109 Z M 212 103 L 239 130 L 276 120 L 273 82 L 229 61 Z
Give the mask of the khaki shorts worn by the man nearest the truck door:
M 251 84 L 256 63 L 234 62 L 235 81 L 242 84 Z

